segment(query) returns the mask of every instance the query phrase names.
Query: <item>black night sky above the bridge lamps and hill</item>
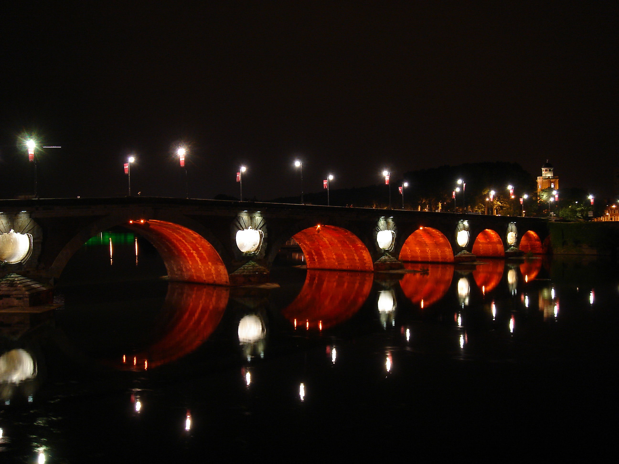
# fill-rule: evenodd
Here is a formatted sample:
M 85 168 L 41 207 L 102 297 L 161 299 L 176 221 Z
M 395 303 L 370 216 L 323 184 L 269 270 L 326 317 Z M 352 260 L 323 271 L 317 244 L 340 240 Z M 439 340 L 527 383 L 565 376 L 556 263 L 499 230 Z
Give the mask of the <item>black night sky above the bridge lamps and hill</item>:
M 223 6 L 222 6 L 223 5 Z M 14 2 L 2 13 L 1 197 L 298 194 L 405 171 L 546 158 L 610 194 L 616 2 Z M 449 186 L 446 187 L 449 189 Z

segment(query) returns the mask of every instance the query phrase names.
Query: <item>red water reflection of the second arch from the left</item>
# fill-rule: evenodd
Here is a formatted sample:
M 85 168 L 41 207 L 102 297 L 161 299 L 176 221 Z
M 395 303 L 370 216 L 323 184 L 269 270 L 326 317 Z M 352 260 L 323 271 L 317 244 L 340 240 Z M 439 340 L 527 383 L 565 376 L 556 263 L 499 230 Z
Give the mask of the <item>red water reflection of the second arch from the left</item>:
M 282 314 L 294 324 L 328 329 L 350 319 L 365 303 L 374 276 L 365 272 L 308 270 L 297 298 Z

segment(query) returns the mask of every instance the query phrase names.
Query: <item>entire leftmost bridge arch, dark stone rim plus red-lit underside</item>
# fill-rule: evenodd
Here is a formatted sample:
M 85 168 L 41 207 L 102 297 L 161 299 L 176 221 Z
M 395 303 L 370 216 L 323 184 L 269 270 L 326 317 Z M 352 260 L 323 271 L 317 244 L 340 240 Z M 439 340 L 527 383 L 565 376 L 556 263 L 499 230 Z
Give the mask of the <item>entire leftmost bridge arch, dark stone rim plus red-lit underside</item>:
M 60 276 L 71 256 L 88 239 L 113 226 L 123 226 L 147 239 L 157 249 L 172 281 L 230 285 L 228 271 L 220 254 L 201 234 L 176 222 L 129 220 L 108 217 L 80 231 L 64 246 L 51 266 Z

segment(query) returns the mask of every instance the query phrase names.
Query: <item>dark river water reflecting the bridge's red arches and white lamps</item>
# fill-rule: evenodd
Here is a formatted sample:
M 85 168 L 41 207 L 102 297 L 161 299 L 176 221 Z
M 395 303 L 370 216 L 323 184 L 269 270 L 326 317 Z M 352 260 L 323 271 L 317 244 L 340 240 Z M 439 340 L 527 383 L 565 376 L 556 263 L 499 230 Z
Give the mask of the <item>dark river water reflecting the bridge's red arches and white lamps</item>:
M 64 270 L 54 322 L 0 352 L 2 462 L 592 461 L 617 432 L 604 258 L 163 279 L 131 233 Z M 13 360 L 12 363 L 9 362 Z

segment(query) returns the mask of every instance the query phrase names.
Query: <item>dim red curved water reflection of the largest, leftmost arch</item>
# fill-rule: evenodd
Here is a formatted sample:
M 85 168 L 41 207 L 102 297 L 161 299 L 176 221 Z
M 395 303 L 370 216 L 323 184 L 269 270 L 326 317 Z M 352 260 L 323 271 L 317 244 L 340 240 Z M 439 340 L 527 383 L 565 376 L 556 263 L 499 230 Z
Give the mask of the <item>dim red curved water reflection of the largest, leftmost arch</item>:
M 121 369 L 157 367 L 183 358 L 213 333 L 228 304 L 230 289 L 223 286 L 170 282 L 163 306 L 160 337 L 141 353 L 130 354 Z M 133 366 L 133 358 L 136 366 Z

